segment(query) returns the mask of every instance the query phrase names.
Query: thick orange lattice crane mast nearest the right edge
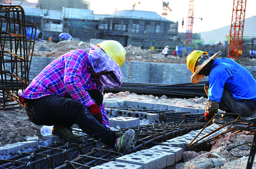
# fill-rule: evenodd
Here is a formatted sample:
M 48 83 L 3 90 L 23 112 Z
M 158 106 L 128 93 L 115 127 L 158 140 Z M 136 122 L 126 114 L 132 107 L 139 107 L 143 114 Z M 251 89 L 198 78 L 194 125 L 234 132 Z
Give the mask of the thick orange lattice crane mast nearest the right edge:
M 246 0 L 234 0 L 230 38 L 228 45 L 228 58 L 241 58 L 244 33 Z

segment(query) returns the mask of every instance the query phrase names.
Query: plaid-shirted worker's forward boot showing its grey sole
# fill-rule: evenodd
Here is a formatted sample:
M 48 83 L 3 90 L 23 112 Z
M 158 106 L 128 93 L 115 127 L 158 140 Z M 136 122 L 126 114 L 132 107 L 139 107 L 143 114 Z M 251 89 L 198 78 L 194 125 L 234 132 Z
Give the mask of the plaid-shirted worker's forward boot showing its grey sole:
M 116 133 L 116 151 L 124 153 L 132 147 L 135 131 L 132 129 L 127 130 L 125 133 Z

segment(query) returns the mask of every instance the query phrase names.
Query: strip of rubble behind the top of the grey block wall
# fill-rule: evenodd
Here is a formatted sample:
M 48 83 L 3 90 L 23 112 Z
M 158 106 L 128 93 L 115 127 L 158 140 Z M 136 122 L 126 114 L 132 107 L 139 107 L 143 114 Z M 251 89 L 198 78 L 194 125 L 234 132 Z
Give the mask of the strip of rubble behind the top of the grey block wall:
M 86 48 L 90 48 L 90 43 L 76 40 L 67 40 L 58 43 L 36 41 L 33 56 L 58 58 L 68 51 Z M 125 61 L 186 64 L 186 57 L 174 57 L 172 51 L 164 58 L 164 54 L 160 50 L 141 49 L 132 45 L 128 45 L 124 49 L 126 50 Z M 234 59 L 234 61 L 242 66 L 256 66 L 254 59 L 240 58 Z

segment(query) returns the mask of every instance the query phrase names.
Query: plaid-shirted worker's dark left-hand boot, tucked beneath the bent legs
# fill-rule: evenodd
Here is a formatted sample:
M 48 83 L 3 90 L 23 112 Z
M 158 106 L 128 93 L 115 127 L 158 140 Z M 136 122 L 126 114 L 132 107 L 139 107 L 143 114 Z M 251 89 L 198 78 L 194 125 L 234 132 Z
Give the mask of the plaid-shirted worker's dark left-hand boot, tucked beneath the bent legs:
M 72 131 L 71 127 L 57 127 L 56 125 L 52 128 L 52 135 L 58 135 L 66 138 L 70 142 L 82 142 L 83 136 L 81 134 L 76 134 Z

